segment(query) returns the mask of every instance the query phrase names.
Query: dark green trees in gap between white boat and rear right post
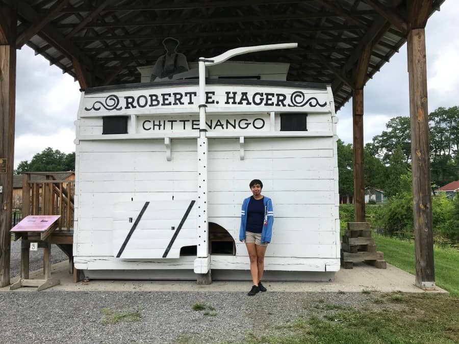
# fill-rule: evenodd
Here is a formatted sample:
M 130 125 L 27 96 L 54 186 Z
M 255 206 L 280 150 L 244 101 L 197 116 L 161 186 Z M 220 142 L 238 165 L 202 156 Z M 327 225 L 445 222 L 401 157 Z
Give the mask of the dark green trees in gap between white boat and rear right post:
M 354 153 L 352 145 L 345 145 L 343 141 L 337 141 L 338 144 L 338 177 L 340 195 L 352 195 L 354 193 Z

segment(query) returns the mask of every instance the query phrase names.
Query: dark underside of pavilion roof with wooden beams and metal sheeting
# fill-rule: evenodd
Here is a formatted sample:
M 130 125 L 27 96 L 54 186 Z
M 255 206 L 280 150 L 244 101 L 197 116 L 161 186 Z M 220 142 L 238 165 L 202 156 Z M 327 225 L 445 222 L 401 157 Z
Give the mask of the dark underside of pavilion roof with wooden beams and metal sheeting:
M 423 0 L 17 0 L 16 46 L 29 45 L 87 86 L 104 86 L 139 82 L 137 67 L 154 64 L 169 36 L 188 62 L 298 42 L 239 59 L 289 62 L 288 80 L 331 84 L 338 110 L 361 88 L 359 61 L 369 58 L 365 83 L 406 41 L 410 1 Z M 443 2 L 433 0 L 431 13 Z

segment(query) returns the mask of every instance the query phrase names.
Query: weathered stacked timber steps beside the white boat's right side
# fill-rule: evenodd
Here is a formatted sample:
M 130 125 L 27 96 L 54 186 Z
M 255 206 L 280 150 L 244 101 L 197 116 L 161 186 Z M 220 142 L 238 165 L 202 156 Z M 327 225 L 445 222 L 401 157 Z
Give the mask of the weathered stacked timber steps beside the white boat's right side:
M 352 269 L 354 262 L 365 261 L 377 269 L 386 269 L 384 253 L 376 251 L 368 222 L 348 222 L 341 242 L 341 266 Z

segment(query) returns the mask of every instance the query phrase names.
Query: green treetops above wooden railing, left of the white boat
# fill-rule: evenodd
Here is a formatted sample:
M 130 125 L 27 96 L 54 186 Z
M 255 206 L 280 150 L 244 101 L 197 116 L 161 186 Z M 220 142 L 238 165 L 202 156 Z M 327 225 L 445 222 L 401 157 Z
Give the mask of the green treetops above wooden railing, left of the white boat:
M 64 172 L 75 170 L 75 153 L 65 154 L 59 149 L 46 148 L 32 157 L 30 163 L 21 161 L 16 174 L 23 172 Z

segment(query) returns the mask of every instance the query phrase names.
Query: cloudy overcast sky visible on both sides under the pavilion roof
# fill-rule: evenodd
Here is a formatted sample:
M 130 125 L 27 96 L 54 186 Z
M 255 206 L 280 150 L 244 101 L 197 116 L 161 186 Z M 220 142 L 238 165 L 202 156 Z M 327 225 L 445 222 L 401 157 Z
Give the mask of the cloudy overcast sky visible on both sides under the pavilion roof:
M 446 0 L 426 27 L 429 112 L 459 105 L 459 2 Z M 409 115 L 406 44 L 365 87 L 364 140 L 384 130 L 395 116 Z M 27 46 L 17 51 L 16 142 L 14 165 L 30 161 L 46 147 L 75 150 L 74 120 L 80 91 L 78 82 Z M 338 112 L 338 136 L 352 143 L 352 102 Z

